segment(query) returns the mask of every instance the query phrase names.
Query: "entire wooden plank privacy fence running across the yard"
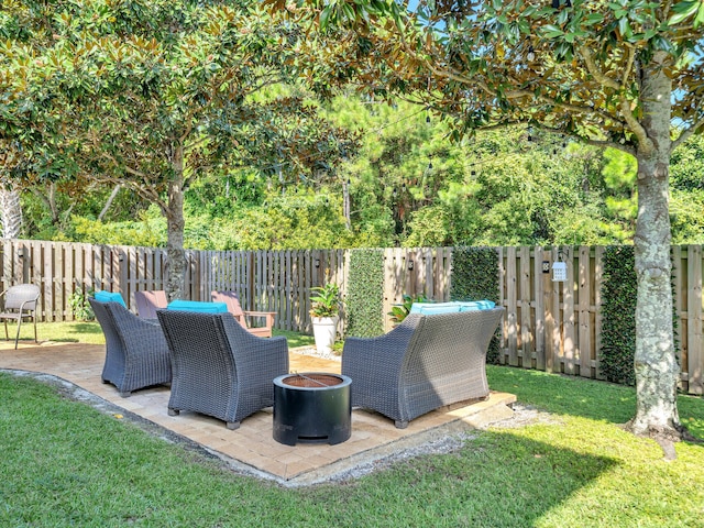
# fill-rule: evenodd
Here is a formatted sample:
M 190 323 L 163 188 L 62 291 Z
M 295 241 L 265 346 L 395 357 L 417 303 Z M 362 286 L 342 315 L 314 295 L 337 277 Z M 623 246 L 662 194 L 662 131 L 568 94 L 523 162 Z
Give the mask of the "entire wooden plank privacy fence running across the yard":
M 134 292 L 164 289 L 166 251 L 31 240 L 4 240 L 2 289 L 34 283 L 43 321 L 72 320 L 76 292 L 120 292 L 134 309 Z M 553 283 L 561 252 L 568 278 Z M 499 302 L 506 308 L 502 361 L 525 369 L 603 378 L 600 370 L 604 248 L 497 248 Z M 310 288 L 334 280 L 346 292 L 349 250 L 187 251 L 186 293 L 209 300 L 212 289 L 235 290 L 245 309 L 276 311 L 276 328 L 310 332 Z M 674 306 L 681 386 L 704 393 L 702 246 L 673 246 Z M 403 295 L 449 300 L 451 248 L 384 250 L 384 314 Z M 344 328 L 341 328 L 344 332 Z

